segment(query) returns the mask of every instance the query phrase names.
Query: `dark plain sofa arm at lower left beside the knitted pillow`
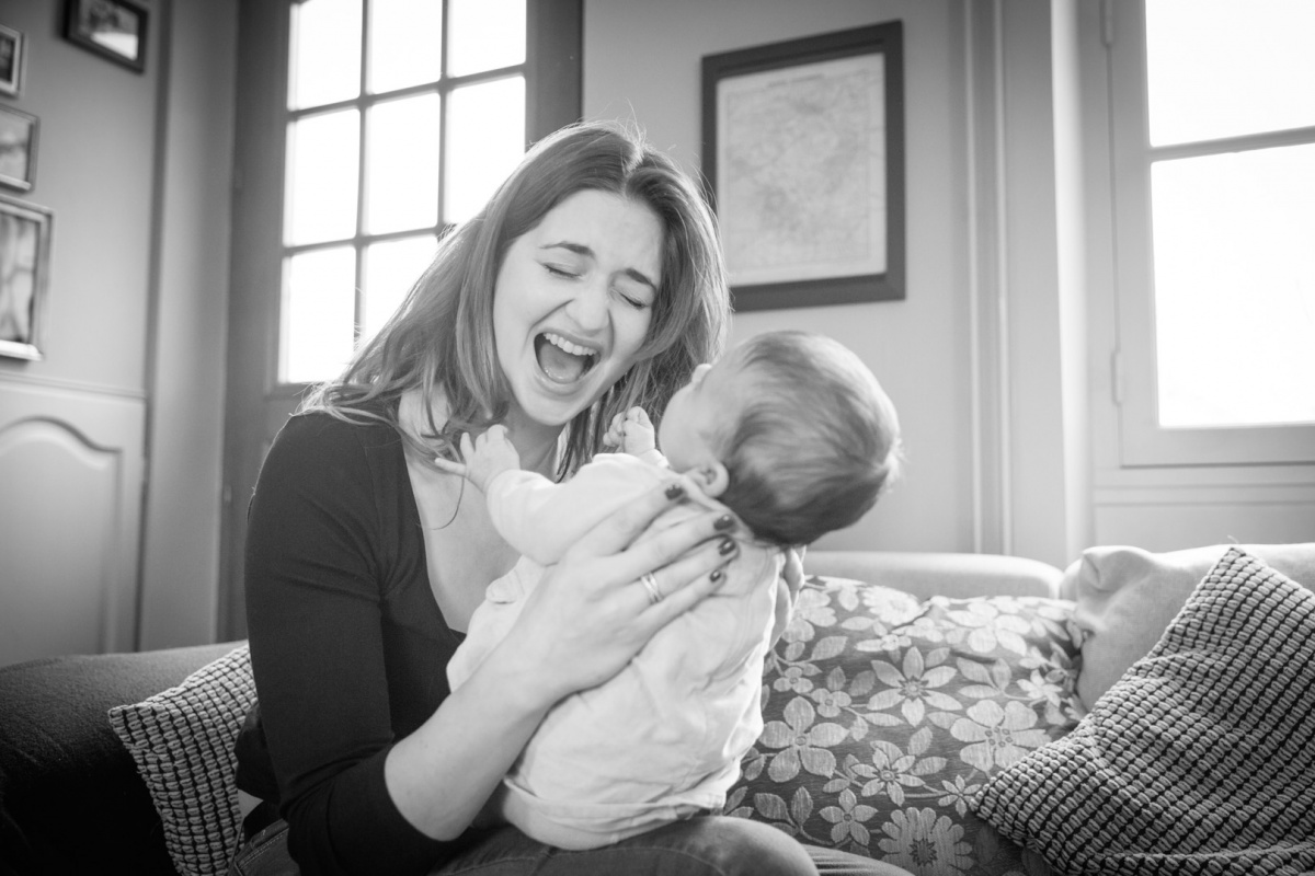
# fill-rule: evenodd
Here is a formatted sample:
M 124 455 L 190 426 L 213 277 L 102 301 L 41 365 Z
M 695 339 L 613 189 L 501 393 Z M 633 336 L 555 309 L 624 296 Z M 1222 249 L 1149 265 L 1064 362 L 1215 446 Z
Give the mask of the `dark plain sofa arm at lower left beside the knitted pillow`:
M 134 873 L 174 873 L 159 816 L 105 711 L 178 684 L 231 649 L 0 667 L 0 872 L 96 873 L 130 862 Z

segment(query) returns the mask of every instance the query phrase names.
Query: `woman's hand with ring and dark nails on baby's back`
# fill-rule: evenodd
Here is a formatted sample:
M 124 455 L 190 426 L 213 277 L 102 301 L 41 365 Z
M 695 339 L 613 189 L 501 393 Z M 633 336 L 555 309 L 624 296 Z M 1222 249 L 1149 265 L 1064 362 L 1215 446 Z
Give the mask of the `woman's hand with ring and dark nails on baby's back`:
M 739 550 L 729 537 L 735 525 L 729 515 L 707 511 L 650 531 L 682 495 L 669 482 L 608 517 L 567 550 L 526 600 L 497 650 L 523 661 L 550 705 L 619 672 L 654 633 L 725 580 Z

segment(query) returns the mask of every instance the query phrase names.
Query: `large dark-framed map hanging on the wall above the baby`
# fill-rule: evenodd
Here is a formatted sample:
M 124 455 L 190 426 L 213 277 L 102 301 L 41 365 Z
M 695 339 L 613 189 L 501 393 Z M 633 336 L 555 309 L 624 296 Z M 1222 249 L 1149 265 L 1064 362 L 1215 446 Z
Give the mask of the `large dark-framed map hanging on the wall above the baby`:
M 901 22 L 705 55 L 702 72 L 735 310 L 902 299 Z

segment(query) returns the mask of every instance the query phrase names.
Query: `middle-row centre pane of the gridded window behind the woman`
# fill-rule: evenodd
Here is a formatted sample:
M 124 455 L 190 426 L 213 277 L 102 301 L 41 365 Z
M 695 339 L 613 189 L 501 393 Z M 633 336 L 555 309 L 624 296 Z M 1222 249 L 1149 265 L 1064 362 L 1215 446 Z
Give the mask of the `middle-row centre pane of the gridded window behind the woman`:
M 438 95 L 391 100 L 368 116 L 366 227 L 372 234 L 438 222 Z

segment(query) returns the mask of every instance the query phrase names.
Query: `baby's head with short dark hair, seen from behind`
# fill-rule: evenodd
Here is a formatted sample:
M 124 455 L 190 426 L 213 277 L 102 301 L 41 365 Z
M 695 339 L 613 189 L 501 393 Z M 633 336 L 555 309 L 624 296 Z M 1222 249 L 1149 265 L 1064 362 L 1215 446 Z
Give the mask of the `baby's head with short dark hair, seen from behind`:
M 899 468 L 899 420 L 843 344 L 773 331 L 700 365 L 663 412 L 658 447 L 757 538 L 803 545 L 876 503 Z

